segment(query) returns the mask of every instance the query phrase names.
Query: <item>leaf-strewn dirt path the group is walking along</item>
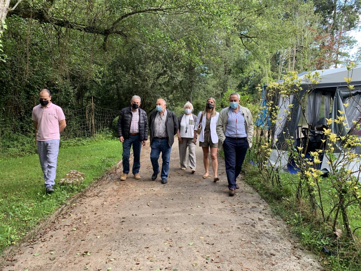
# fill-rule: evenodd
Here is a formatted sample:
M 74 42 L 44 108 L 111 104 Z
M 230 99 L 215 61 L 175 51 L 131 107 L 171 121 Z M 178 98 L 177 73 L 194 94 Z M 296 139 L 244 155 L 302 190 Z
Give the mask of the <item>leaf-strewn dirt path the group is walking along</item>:
M 116 168 L 3 270 L 322 270 L 249 186 L 239 181 L 228 196 L 222 159 L 221 181 L 204 180 L 196 150 L 192 175 L 180 169 L 176 141 L 161 185 L 151 181 L 150 148 L 143 148 L 142 180 L 120 181 Z

